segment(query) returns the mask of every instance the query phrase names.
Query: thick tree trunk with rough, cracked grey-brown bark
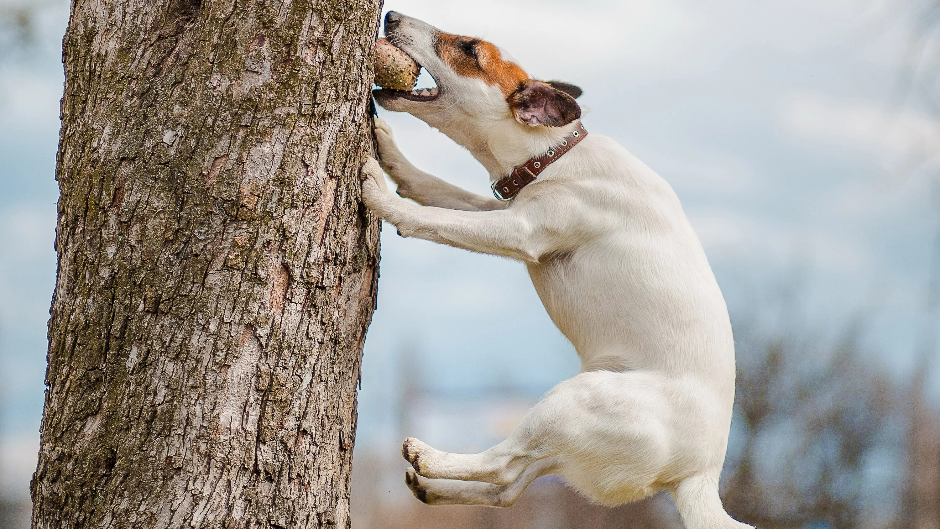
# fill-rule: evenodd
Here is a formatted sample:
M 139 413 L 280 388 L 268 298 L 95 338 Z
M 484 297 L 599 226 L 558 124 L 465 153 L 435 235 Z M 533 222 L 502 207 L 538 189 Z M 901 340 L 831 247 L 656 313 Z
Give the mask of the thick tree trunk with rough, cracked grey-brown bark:
M 72 0 L 36 528 L 349 521 L 380 0 Z

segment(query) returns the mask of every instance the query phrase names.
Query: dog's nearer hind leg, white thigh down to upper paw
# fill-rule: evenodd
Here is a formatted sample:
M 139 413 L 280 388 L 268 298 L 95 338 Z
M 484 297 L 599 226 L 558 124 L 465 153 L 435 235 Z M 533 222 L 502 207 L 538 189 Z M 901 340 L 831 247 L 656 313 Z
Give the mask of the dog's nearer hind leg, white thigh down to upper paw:
M 643 489 L 659 472 L 669 445 L 659 420 L 668 412 L 660 410 L 666 404 L 658 384 L 640 373 L 581 373 L 556 385 L 506 441 L 489 450 L 451 454 L 410 438 L 402 456 L 425 477 L 494 485 L 509 485 L 540 459 L 561 457 L 568 478 L 615 468 L 639 479 L 636 487 Z

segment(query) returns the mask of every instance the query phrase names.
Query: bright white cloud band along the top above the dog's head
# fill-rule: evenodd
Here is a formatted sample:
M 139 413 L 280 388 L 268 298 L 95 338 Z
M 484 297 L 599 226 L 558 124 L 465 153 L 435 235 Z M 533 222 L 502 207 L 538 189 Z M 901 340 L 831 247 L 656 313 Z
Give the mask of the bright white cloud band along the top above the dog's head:
M 892 11 L 857 0 L 480 0 L 472 6 L 395 0 L 384 7 L 448 32 L 493 40 L 536 76 L 614 84 L 697 77 L 743 54 L 774 60 L 852 46 L 854 53 L 886 63 L 903 48 L 897 31 L 890 38 L 869 37 L 874 30 L 888 34 L 873 24 Z M 774 70 L 780 68 L 787 67 Z

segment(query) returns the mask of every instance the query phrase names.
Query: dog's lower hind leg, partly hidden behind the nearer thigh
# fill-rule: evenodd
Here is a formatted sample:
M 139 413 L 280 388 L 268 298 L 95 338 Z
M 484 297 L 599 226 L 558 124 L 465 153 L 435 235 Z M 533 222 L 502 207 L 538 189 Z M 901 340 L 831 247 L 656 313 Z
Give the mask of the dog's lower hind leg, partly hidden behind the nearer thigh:
M 405 483 L 415 498 L 429 506 L 508 507 L 516 503 L 530 483 L 542 475 L 555 473 L 558 466 L 555 458 L 540 459 L 526 467 L 515 481 L 502 486 L 481 481 L 423 477 L 413 469 L 405 471 Z

